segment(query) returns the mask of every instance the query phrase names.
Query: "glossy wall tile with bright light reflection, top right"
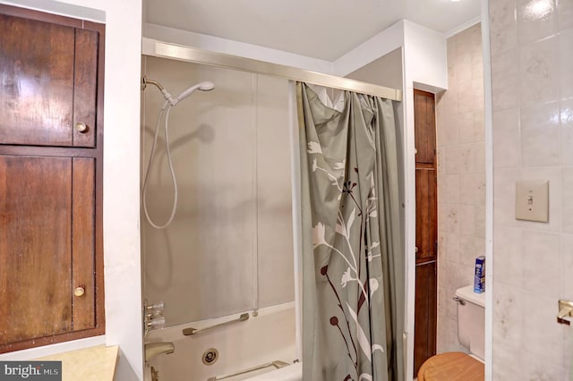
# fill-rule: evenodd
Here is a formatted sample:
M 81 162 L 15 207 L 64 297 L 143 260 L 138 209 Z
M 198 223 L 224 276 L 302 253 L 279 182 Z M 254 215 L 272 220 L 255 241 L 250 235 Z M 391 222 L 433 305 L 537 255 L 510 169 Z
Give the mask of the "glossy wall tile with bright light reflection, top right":
M 553 0 L 517 0 L 517 38 L 520 44 L 535 42 L 555 31 Z

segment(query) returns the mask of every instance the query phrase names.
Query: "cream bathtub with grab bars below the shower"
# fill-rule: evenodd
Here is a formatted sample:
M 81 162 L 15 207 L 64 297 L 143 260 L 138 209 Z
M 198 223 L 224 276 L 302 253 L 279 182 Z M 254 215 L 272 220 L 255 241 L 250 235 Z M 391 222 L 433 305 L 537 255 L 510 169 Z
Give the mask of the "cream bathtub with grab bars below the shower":
M 259 309 L 257 312 L 251 312 L 245 321 L 219 326 L 200 334 L 186 336 L 183 330 L 217 325 L 234 320 L 241 314 L 151 331 L 145 343 L 173 343 L 175 351 L 158 354 L 146 362 L 146 381 L 151 380 L 151 368 L 158 372 L 158 381 L 207 381 L 273 361 L 289 365 L 278 369 L 269 366 L 225 380 L 302 380 L 302 366 L 297 362 L 295 349 L 295 303 Z M 203 355 L 212 349 L 217 351 L 217 360 L 206 365 Z M 210 354 L 213 352 L 210 351 Z

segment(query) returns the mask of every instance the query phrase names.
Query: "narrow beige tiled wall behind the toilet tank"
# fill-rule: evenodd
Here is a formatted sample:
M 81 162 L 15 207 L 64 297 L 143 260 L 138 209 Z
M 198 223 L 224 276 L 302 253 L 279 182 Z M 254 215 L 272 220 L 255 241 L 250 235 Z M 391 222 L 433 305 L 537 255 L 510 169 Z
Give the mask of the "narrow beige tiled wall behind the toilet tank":
M 448 39 L 449 89 L 436 97 L 438 154 L 438 352 L 458 343 L 459 287 L 484 255 L 485 159 L 480 24 Z

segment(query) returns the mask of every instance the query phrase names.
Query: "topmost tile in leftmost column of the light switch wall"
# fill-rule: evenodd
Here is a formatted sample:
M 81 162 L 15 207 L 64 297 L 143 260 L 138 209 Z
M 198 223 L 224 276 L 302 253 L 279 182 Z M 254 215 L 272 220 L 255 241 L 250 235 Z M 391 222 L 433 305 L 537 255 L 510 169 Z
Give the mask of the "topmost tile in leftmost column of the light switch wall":
M 517 47 L 515 0 L 490 2 L 490 35 L 492 54 Z

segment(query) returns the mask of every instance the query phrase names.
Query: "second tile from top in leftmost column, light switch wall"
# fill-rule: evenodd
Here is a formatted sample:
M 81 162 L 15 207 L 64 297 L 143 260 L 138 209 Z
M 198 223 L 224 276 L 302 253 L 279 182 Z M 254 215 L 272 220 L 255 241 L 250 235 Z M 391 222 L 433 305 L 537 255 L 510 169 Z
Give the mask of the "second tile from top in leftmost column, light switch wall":
M 507 110 L 517 107 L 519 72 L 516 70 L 517 49 L 492 55 L 492 108 Z

